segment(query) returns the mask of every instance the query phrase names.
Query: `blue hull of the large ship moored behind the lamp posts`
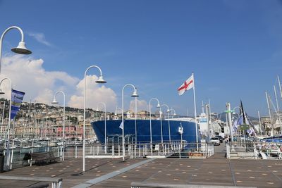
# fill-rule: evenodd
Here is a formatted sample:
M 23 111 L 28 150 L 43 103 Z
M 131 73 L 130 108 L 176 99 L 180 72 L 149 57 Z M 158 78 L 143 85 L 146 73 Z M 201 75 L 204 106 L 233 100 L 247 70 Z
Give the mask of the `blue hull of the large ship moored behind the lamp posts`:
M 150 141 L 150 121 L 149 120 L 137 120 L 137 142 L 147 142 Z M 171 141 L 180 140 L 181 135 L 178 132 L 178 127 L 182 125 L 183 127 L 183 141 L 188 143 L 196 142 L 196 131 L 195 123 L 187 121 L 170 120 L 171 127 Z M 94 132 L 99 139 L 99 142 L 105 143 L 105 123 L 104 121 L 95 121 L 91 123 Z M 121 125 L 121 120 L 107 120 L 106 121 L 106 137 L 109 141 L 121 143 L 122 130 L 119 127 Z M 168 120 L 162 120 L 162 132 L 163 141 L 169 142 L 168 133 Z M 125 141 L 135 142 L 135 120 L 125 120 L 124 121 L 124 135 Z M 198 142 L 200 142 L 200 134 L 198 132 Z M 161 142 L 161 123 L 160 120 L 152 120 L 152 141 Z

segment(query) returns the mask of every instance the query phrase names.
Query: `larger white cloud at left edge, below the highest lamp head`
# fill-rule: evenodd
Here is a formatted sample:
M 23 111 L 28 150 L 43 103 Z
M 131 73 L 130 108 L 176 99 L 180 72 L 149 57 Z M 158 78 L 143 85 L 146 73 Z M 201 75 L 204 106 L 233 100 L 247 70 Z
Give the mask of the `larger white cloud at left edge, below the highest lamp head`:
M 78 78 L 72 77 L 64 72 L 46 71 L 43 68 L 42 59 L 25 58 L 21 55 L 6 56 L 3 58 L 1 74 L 12 80 L 13 89 L 25 92 L 24 101 L 37 101 L 50 104 L 54 92 L 61 89 L 56 82 L 61 81 L 66 85 L 65 91 L 78 83 Z M 4 91 L 10 89 L 9 83 L 4 82 L 1 88 Z M 9 94 L 5 94 L 8 98 Z

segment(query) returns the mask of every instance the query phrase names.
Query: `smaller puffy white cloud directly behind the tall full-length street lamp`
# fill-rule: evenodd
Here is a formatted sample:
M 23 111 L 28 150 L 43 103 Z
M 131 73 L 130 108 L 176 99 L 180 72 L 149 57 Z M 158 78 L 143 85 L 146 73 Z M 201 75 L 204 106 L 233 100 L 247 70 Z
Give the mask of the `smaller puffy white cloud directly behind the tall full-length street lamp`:
M 116 108 L 116 93 L 104 85 L 97 84 L 95 82 L 97 79 L 96 75 L 86 76 L 86 108 L 96 109 L 99 102 L 104 102 L 106 111 L 114 111 Z M 83 108 L 84 84 L 85 80 L 83 79 L 76 85 L 77 94 L 71 96 L 68 106 Z M 102 107 L 99 108 L 102 109 Z

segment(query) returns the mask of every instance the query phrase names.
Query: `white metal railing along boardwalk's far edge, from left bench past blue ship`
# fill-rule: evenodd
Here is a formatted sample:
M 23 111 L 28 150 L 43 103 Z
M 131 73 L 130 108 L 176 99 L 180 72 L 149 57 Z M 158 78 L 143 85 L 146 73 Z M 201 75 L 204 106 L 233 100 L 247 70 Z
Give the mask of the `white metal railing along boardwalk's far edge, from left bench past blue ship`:
M 106 149 L 105 149 L 106 147 Z M 82 158 L 82 144 L 66 144 L 63 146 L 25 146 L 20 148 L 4 149 L 4 170 L 32 165 L 34 161 L 25 159 L 26 153 L 53 151 L 54 156 L 62 158 Z M 87 144 L 85 156 L 87 158 L 121 158 L 121 143 Z M 187 143 L 180 141 L 125 144 L 125 157 L 128 158 L 209 158 L 214 155 L 214 145 L 206 143 Z

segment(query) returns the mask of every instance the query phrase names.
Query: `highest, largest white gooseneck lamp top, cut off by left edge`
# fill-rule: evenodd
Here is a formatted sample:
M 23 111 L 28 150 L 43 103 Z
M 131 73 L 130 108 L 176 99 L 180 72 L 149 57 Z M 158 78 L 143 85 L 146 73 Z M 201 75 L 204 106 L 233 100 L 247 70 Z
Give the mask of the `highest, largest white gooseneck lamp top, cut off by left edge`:
M 31 51 L 28 50 L 26 47 L 25 47 L 25 42 L 24 42 L 24 35 L 23 35 L 23 30 L 20 29 L 20 27 L 17 27 L 17 26 L 11 26 L 11 27 L 8 27 L 4 32 L 3 34 L 1 35 L 1 38 L 0 38 L 0 73 L 1 73 L 1 57 L 2 57 L 2 42 L 3 42 L 3 38 L 5 36 L 5 34 L 9 31 L 9 30 L 12 30 L 12 29 L 17 29 L 20 31 L 20 34 L 22 36 L 22 39 L 20 40 L 20 42 L 18 43 L 18 46 L 16 48 L 13 48 L 11 49 L 13 52 L 17 53 L 17 54 L 31 54 Z

